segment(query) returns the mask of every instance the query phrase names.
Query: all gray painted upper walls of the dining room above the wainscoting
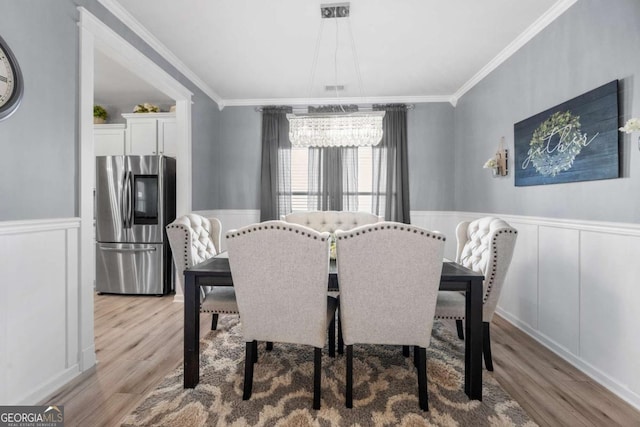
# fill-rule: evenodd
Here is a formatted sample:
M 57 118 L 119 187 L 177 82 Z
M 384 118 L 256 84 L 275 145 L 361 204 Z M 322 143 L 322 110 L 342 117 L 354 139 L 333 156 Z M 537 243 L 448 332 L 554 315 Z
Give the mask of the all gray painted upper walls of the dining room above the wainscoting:
M 194 209 L 258 209 L 261 118 L 253 108 L 218 111 L 96 0 L 0 0 L 2 37 L 25 78 L 22 105 L 0 122 L 0 220 L 77 215 L 77 5 L 194 93 Z M 640 116 L 639 22 L 637 0 L 581 0 L 455 109 L 416 105 L 408 116 L 412 209 L 640 220 L 638 134 L 633 143 L 622 138 L 620 179 L 516 188 L 512 173 L 494 179 L 482 169 L 501 136 L 513 150 L 514 123 L 613 79 L 621 80 L 621 120 Z

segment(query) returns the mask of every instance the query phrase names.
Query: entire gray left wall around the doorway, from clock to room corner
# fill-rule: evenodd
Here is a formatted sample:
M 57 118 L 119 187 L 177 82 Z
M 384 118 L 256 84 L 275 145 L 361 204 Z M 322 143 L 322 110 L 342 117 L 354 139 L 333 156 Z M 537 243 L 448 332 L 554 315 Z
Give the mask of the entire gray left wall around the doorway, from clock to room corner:
M 78 215 L 77 6 L 84 6 L 194 93 L 193 205 L 212 208 L 217 105 L 96 0 L 0 0 L 0 31 L 22 68 L 24 98 L 0 122 L 0 221 Z M 196 178 L 198 181 L 196 181 Z

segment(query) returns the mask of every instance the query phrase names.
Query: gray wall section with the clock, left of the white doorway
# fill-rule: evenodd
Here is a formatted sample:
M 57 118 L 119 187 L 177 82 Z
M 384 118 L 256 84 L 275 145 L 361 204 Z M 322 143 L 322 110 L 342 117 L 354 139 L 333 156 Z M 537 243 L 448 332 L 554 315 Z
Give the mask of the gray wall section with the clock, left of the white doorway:
M 0 122 L 0 220 L 72 217 L 77 204 L 78 26 L 72 1 L 0 0 L 25 82 Z

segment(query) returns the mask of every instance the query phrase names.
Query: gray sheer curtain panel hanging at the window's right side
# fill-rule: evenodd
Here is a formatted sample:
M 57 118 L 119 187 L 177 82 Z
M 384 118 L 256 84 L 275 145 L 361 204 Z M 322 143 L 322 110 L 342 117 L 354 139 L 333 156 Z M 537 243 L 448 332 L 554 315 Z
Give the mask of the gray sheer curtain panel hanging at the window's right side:
M 374 105 L 373 109 L 386 112 L 382 141 L 373 147 L 373 213 L 410 224 L 407 106 Z

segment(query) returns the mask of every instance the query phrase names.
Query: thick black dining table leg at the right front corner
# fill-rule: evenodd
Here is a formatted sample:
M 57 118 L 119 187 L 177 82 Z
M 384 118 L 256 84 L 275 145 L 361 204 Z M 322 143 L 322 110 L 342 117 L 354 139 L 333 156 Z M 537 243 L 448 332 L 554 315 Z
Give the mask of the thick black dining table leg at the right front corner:
M 482 280 L 471 280 L 466 298 L 464 391 L 482 400 Z

